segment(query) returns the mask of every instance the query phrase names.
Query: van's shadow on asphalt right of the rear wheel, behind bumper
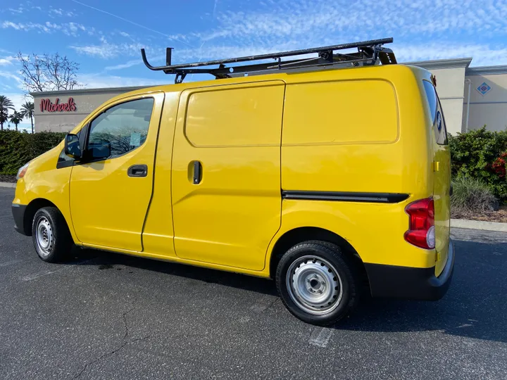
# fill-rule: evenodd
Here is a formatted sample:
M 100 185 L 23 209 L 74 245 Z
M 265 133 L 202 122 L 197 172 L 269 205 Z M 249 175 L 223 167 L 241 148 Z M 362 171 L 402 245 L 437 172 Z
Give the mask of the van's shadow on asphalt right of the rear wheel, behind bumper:
M 457 241 L 451 286 L 437 302 L 369 298 L 337 329 L 442 331 L 507 342 L 507 244 Z

